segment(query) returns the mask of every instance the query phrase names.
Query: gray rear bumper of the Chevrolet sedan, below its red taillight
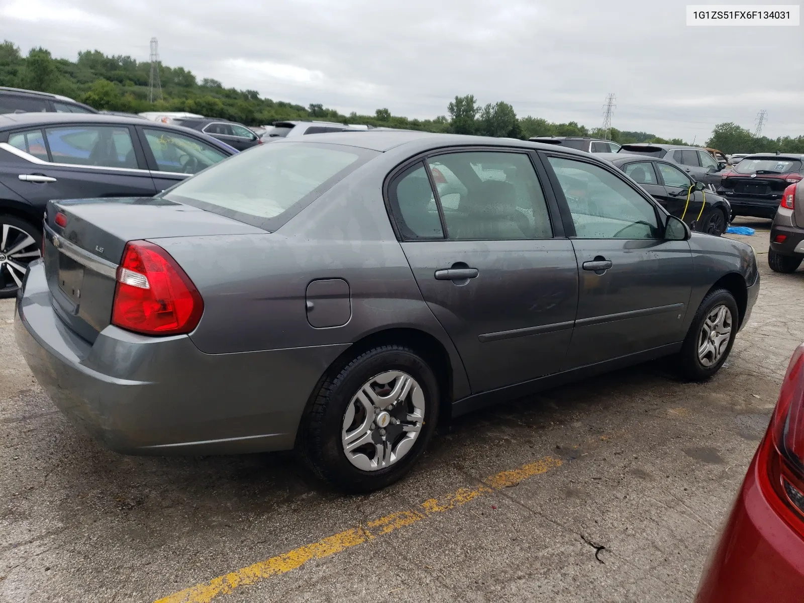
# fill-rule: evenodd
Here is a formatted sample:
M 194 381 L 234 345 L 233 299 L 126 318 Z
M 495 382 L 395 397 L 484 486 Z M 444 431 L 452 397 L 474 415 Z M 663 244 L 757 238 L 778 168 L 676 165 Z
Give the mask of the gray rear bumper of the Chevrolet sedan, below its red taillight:
M 310 393 L 348 347 L 204 354 L 187 335 L 116 326 L 90 344 L 52 309 L 41 262 L 18 294 L 14 326 L 28 366 L 72 423 L 135 454 L 293 448 Z

